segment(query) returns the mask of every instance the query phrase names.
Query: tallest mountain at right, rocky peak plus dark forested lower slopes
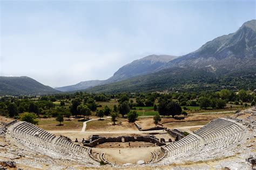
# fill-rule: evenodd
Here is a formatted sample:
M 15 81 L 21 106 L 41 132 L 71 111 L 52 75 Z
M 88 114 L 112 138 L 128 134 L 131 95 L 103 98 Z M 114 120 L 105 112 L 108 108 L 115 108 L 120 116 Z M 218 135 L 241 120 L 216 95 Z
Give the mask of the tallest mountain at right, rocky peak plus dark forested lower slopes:
M 206 42 L 154 73 L 89 88 L 92 93 L 256 88 L 256 20 L 237 32 Z

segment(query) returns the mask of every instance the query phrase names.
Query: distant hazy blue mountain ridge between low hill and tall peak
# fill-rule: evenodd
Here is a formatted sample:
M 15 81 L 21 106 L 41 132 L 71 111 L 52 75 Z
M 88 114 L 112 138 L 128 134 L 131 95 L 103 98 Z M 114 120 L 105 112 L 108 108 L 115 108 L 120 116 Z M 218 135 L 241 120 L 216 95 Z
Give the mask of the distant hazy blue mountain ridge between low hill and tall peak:
M 55 88 L 60 91 L 75 91 L 84 90 L 90 87 L 95 87 L 107 83 L 118 82 L 129 79 L 130 77 L 145 75 L 156 72 L 160 67 L 163 67 L 169 61 L 177 58 L 173 55 L 149 55 L 142 59 L 134 60 L 131 63 L 119 68 L 112 77 L 107 80 L 90 80 L 83 81 L 71 86 Z

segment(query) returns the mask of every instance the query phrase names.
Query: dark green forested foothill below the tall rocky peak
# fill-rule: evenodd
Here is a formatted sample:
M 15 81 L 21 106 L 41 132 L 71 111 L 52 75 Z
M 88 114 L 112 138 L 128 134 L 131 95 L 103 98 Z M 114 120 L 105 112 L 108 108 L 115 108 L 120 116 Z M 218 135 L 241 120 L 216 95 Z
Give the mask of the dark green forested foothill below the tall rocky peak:
M 256 88 L 256 67 L 230 71 L 212 68 L 169 68 L 103 86 L 89 88 L 91 93 L 135 93 L 151 91 L 203 91 Z

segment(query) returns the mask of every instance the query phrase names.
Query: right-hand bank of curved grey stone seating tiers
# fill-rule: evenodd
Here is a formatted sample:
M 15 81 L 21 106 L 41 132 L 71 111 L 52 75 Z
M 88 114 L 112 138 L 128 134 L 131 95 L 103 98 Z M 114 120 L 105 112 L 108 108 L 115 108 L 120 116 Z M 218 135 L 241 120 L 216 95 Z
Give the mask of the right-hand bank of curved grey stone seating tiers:
M 226 118 L 218 118 L 194 134 L 175 141 L 164 148 L 169 151 L 166 159 L 214 155 L 237 144 L 245 134 L 245 129 L 238 123 Z

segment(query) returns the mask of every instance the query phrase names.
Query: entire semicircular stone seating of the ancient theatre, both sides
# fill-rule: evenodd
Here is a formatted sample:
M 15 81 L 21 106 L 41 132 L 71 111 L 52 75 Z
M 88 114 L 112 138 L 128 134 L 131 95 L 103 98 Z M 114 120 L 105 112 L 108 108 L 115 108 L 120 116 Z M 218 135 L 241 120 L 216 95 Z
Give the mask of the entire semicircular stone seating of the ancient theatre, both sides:
M 1 133 L 4 140 L 1 143 L 5 141 L 6 144 L 5 152 L 1 152 L 1 156 L 21 160 L 59 160 L 62 164 L 52 165 L 56 168 L 70 166 L 69 162 L 72 165 L 80 165 L 80 167 L 102 167 L 100 161 L 106 163 L 104 165 L 106 168 L 124 166 L 129 168 L 168 167 L 188 163 L 198 165 L 209 160 L 223 161 L 223 165 L 228 165 L 233 164 L 232 160 L 228 160 L 228 158 L 237 157 L 240 159 L 233 160 L 233 162 L 236 162 L 234 164 L 244 160 L 241 167 L 250 169 L 252 164 L 247 161 L 248 158 L 253 157 L 252 154 L 255 154 L 256 112 L 251 112 L 250 116 L 244 119 L 237 118 L 239 114 L 214 119 L 180 140 L 161 146 L 162 154 L 151 152 L 151 159 L 145 163 L 143 162 L 143 165 L 115 164 L 114 161 L 107 160 L 104 154 L 97 156 L 93 154 L 91 147 L 77 145 L 72 143 L 69 138 L 56 136 L 28 122 L 17 121 L 2 126 Z M 255 155 L 253 159 L 255 161 Z M 52 166 L 51 168 L 54 168 Z M 41 162 L 37 162 L 33 167 L 45 168 Z M 221 167 L 220 165 L 219 168 Z

